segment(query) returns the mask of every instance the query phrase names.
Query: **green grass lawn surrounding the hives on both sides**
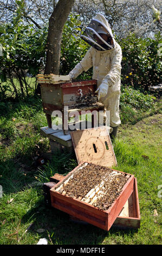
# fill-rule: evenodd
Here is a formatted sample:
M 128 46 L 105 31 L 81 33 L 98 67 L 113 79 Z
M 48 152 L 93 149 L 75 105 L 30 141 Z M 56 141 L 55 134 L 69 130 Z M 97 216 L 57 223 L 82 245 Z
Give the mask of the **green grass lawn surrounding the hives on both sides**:
M 0 184 L 3 188 L 0 198 L 1 245 L 34 245 L 43 237 L 50 245 L 161 243 L 159 102 L 147 112 L 127 106 L 121 109 L 122 125 L 113 144 L 118 162 L 115 168 L 137 178 L 141 226 L 138 230 L 112 227 L 108 232 L 90 224 L 70 222 L 64 212 L 44 206 L 42 183 L 49 181 L 54 173 L 67 174 L 77 166 L 77 161 L 74 154 L 57 152 L 50 162 L 46 160 L 44 166 L 37 164 L 36 156 L 50 152 L 48 139 L 40 135 L 40 127 L 47 126 L 40 98 L 8 102 L 4 108 L 0 119 Z M 134 117 L 129 111 L 135 113 Z

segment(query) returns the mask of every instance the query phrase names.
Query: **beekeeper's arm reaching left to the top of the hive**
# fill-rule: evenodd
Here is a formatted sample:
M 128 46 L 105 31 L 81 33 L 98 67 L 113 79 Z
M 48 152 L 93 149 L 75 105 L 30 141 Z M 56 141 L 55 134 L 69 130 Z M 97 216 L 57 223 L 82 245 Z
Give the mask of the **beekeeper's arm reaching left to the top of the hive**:
M 87 71 L 93 66 L 92 63 L 92 47 L 86 52 L 85 57 L 81 60 L 81 62 L 77 63 L 75 68 L 69 72 L 69 76 L 72 79 L 75 79 L 79 76 L 83 71 Z

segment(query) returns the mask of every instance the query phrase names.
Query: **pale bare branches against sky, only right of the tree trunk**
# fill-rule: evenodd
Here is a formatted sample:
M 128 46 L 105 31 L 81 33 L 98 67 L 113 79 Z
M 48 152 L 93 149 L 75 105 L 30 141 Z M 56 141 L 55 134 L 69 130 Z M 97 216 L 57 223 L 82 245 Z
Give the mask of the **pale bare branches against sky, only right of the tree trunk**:
M 76 0 L 73 11 L 83 23 L 96 13 L 103 14 L 118 38 L 133 32 L 137 36 L 152 36 L 159 31 L 153 22 L 152 5 L 160 10 L 160 0 Z

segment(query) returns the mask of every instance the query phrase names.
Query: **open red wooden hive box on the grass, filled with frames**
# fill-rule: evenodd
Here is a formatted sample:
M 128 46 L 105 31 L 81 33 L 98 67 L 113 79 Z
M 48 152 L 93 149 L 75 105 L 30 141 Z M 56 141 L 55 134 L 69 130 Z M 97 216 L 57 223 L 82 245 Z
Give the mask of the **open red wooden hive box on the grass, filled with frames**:
M 108 209 L 105 210 L 101 209 L 99 206 L 94 206 L 95 204 L 93 203 L 96 199 L 99 199 L 100 201 L 101 195 L 101 198 L 103 198 L 107 194 L 107 192 L 103 190 L 103 184 L 108 176 L 105 176 L 105 178 L 102 177 L 103 180 L 101 179 L 99 184 L 95 184 L 93 188 L 90 188 L 89 192 L 86 192 L 86 196 L 84 195 L 83 197 L 70 195 L 64 188 L 64 186 L 70 182 L 70 179 L 73 179 L 73 176 L 77 174 L 81 168 L 84 168 L 85 165 L 88 166 L 89 164 L 90 163 L 79 164 L 79 166 L 65 176 L 55 187 L 51 188 L 51 205 L 54 208 L 67 212 L 69 215 L 79 218 L 82 221 L 86 221 L 90 224 L 96 225 L 96 227 L 108 231 L 133 192 L 134 175 L 111 169 L 117 179 L 120 175 L 124 175 L 127 177 L 127 181 L 125 185 L 120 188 L 120 193 L 116 196 L 113 202 L 108 205 Z M 80 179 L 80 182 L 84 182 L 83 178 Z

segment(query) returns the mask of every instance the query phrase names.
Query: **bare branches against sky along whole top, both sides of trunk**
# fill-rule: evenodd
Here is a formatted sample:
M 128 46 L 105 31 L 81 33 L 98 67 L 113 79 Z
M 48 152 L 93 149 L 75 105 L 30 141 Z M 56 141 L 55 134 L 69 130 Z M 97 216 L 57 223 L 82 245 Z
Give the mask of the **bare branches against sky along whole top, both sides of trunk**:
M 59 0 L 23 1 L 23 21 L 34 23 L 38 28 L 48 26 L 49 17 L 59 3 Z M 118 38 L 129 32 L 137 36 L 153 36 L 159 31 L 160 23 L 154 22 L 152 5 L 160 10 L 161 0 L 75 0 L 72 13 L 80 15 L 82 27 L 96 13 L 103 14 Z M 0 23 L 10 21 L 15 10 L 15 0 L 0 0 Z

